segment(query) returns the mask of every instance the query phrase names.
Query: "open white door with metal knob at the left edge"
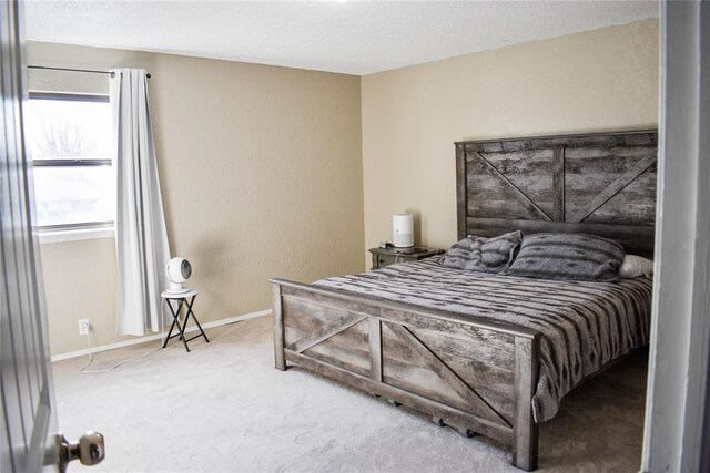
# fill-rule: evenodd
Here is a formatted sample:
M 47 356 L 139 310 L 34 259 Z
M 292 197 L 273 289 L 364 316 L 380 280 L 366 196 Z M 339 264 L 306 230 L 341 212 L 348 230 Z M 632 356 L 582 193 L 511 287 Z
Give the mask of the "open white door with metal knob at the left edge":
M 59 442 L 42 273 L 34 226 L 32 169 L 22 137 L 24 38 L 22 4 L 0 1 L 0 471 L 63 470 L 103 459 L 103 439 Z

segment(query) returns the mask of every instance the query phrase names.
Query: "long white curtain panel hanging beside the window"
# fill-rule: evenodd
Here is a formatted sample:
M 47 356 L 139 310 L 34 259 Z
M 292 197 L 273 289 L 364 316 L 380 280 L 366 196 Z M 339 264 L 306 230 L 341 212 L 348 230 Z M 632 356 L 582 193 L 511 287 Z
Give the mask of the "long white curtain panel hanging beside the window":
M 118 131 L 115 216 L 118 335 L 162 329 L 161 297 L 170 259 L 145 71 L 114 69 L 111 105 Z

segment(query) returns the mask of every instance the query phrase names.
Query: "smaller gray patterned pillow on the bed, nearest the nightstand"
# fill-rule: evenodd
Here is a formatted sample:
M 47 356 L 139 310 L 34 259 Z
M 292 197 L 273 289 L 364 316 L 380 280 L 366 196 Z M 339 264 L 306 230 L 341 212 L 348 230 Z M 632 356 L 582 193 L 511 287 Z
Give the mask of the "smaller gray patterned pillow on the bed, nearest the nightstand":
M 513 261 L 521 239 L 520 230 L 493 238 L 468 235 L 446 251 L 442 265 L 470 271 L 500 273 Z

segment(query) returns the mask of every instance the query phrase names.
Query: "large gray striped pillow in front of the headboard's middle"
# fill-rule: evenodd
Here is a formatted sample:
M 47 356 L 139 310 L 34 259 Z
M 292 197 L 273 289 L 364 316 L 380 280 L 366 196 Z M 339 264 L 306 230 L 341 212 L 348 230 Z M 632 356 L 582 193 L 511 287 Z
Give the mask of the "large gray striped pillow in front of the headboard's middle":
M 617 241 L 585 234 L 535 234 L 506 271 L 528 278 L 616 281 L 626 251 Z

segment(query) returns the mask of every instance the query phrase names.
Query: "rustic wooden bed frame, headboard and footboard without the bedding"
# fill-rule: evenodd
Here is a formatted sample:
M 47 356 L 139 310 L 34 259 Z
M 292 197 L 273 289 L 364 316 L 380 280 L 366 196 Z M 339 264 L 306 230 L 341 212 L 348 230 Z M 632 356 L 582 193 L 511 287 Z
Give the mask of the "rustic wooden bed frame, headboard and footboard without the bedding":
M 589 233 L 651 255 L 656 132 L 456 143 L 458 236 Z M 532 471 L 534 330 L 272 279 L 276 368 L 300 366 L 513 450 Z

